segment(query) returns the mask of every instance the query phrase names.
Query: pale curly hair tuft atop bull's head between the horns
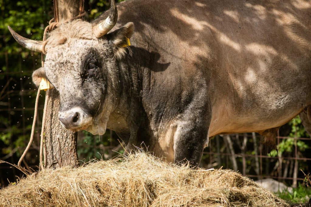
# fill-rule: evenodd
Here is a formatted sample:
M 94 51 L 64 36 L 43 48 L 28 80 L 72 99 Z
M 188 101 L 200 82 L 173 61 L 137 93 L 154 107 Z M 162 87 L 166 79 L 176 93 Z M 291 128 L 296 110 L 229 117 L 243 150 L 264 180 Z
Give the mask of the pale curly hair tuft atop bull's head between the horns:
M 97 40 L 92 25 L 89 22 L 80 19 L 60 24 L 48 36 L 47 51 L 49 48 L 65 44 L 70 39 L 89 39 Z

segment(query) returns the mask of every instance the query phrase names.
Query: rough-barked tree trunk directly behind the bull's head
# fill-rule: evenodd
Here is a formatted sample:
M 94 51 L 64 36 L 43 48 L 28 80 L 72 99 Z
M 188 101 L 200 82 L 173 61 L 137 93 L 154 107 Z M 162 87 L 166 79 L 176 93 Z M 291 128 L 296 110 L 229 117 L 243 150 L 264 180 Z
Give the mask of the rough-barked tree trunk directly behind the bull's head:
M 65 22 L 81 14 L 84 0 L 54 0 L 54 20 Z M 49 90 L 49 100 L 44 127 L 45 168 L 78 166 L 77 132 L 66 130 L 58 120 L 59 93 Z

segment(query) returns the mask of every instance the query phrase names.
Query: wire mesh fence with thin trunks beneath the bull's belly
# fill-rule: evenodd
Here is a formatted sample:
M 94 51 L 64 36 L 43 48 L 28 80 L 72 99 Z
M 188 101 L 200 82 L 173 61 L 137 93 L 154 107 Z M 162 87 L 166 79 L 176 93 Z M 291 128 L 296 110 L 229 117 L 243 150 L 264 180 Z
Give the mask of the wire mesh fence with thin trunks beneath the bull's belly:
M 207 168 L 233 169 L 254 180 L 273 178 L 293 187 L 304 179 L 300 170 L 310 173 L 310 149 L 299 149 L 297 144 L 300 141 L 311 146 L 310 138 L 277 136 L 278 146 L 287 142 L 288 148 L 284 150 L 279 147 L 268 154 L 263 154 L 261 139 L 255 133 L 218 136 L 210 141 L 202 162 L 207 164 Z

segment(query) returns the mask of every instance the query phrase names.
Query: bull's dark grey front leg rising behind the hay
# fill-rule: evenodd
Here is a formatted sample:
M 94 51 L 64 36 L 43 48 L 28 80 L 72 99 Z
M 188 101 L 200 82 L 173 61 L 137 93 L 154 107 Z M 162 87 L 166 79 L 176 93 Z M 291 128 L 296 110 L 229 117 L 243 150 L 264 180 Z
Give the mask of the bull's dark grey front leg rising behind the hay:
M 204 113 L 203 113 L 204 114 Z M 174 162 L 185 163 L 196 167 L 200 164 L 205 143 L 208 141 L 208 116 L 197 117 L 197 113 L 186 114 L 179 122 L 174 136 Z

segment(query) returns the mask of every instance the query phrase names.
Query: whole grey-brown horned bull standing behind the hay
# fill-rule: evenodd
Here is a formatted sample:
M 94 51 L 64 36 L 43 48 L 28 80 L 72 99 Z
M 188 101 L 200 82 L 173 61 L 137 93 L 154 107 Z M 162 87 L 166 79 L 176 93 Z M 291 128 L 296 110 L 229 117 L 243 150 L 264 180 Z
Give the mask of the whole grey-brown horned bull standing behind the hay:
M 112 129 L 127 150 L 144 143 L 197 165 L 218 134 L 273 142 L 298 114 L 310 134 L 310 17 L 304 0 L 112 0 L 91 23 L 59 25 L 45 47 L 9 29 L 46 51 L 33 81 L 58 90 L 63 127 Z

